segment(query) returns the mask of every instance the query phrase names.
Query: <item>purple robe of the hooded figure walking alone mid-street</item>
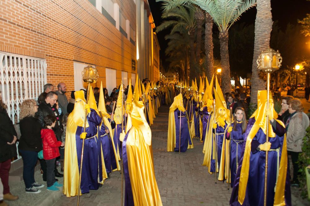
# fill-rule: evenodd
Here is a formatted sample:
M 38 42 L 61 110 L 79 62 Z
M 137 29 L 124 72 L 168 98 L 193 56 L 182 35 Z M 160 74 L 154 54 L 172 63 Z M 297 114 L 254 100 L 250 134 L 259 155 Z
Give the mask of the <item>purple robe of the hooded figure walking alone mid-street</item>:
M 192 145 L 191 136 L 188 128 L 188 120 L 186 111 L 181 112 L 181 138 L 180 138 L 180 111 L 176 109 L 174 111 L 175 115 L 175 152 L 186 152 L 188 144 Z M 181 139 L 181 144 L 179 145 L 179 139 Z

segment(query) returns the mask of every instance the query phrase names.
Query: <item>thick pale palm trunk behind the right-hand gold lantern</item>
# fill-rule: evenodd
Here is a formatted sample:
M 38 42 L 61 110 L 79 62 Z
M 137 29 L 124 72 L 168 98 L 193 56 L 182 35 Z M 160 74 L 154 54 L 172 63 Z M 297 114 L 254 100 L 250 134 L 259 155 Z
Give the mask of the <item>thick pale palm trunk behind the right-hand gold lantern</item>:
M 257 104 L 257 91 L 265 90 L 265 81 L 259 78 L 256 60 L 259 54 L 269 47 L 270 32 L 272 30 L 272 16 L 270 1 L 257 0 L 255 19 L 254 54 L 252 61 L 251 103 Z

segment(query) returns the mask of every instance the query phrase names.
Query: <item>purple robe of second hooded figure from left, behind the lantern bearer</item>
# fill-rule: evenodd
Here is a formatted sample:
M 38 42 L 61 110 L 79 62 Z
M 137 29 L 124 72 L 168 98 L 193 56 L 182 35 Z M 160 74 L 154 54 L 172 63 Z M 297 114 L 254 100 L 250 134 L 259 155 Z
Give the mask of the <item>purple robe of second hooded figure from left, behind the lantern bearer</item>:
M 110 119 L 108 120 L 110 121 Z M 114 129 L 115 123 L 111 123 L 111 127 L 112 129 Z M 112 172 L 112 170 L 117 169 L 117 164 L 116 164 L 114 149 L 113 149 L 113 144 L 112 144 L 113 140 L 110 134 L 107 134 L 105 132 L 105 129 L 108 129 L 108 127 L 102 124 L 101 129 L 99 131 L 98 147 L 100 148 L 100 144 L 102 145 L 105 170 L 107 171 L 107 173 L 110 173 Z M 99 156 L 99 159 L 101 160 L 101 155 Z M 99 161 L 99 164 L 100 164 L 100 161 Z M 102 170 L 102 167 L 99 167 L 99 170 Z

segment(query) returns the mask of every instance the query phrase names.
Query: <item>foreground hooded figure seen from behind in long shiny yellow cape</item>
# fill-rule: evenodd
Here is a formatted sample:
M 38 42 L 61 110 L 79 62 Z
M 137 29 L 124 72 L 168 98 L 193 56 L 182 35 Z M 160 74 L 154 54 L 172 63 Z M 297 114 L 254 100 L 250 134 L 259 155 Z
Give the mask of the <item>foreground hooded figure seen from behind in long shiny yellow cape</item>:
M 152 134 L 144 116 L 142 101 L 133 101 L 127 126 L 130 129 L 122 143 L 125 206 L 162 206 L 155 179 Z

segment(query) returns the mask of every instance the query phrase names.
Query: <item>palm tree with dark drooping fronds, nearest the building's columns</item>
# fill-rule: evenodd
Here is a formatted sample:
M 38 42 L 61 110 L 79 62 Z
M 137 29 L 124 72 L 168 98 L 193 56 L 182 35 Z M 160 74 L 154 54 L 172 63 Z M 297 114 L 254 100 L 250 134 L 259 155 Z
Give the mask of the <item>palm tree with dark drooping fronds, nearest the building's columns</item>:
M 158 27 L 156 27 L 156 32 L 160 32 L 168 27 L 172 27 L 170 34 L 179 32 L 185 29 L 190 36 L 189 46 L 189 67 L 190 67 L 190 78 L 194 79 L 197 76 L 197 71 L 195 69 L 195 48 L 194 48 L 194 38 L 195 38 L 195 28 L 196 20 L 194 18 L 194 10 L 188 7 L 180 6 L 171 10 L 169 12 L 164 12 L 162 14 L 163 19 L 170 19 L 164 21 Z

